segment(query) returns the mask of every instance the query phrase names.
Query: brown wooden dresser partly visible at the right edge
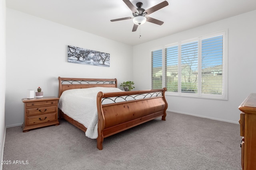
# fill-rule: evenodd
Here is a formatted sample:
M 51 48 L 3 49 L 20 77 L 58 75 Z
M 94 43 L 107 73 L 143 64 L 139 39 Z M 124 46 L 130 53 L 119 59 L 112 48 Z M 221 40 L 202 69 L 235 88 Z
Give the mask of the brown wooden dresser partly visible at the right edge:
M 243 170 L 256 169 L 256 93 L 250 94 L 239 106 L 242 136 L 241 164 Z

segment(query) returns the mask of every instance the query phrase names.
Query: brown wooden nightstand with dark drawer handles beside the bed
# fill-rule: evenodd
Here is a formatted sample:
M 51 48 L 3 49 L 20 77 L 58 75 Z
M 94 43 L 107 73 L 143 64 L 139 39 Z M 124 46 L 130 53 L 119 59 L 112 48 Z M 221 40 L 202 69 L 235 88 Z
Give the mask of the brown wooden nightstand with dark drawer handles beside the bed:
M 56 97 L 22 99 L 24 103 L 23 132 L 38 127 L 59 125 L 58 100 Z

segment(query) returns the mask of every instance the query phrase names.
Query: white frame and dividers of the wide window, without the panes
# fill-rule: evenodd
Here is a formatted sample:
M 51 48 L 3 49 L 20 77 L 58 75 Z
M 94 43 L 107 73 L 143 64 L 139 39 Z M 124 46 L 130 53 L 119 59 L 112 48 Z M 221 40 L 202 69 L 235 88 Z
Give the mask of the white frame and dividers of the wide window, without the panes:
M 202 40 L 217 37 L 222 35 L 222 94 L 204 94 L 202 93 Z M 181 45 L 185 43 L 190 43 L 193 41 L 198 41 L 198 92 L 197 93 L 188 93 L 181 92 Z M 228 100 L 228 29 L 223 31 L 218 31 L 215 33 L 210 33 L 203 36 L 198 36 L 193 39 L 188 39 L 184 41 L 179 41 L 176 43 L 171 43 L 169 45 L 162 46 L 162 87 L 166 86 L 166 76 L 165 76 L 165 49 L 168 47 L 173 47 L 178 45 L 178 92 L 169 92 L 166 91 L 166 96 L 181 96 L 181 97 L 192 97 L 192 98 L 205 98 L 205 99 L 216 99 L 216 100 Z M 154 48 L 154 50 L 160 50 L 160 47 Z M 150 54 L 151 51 L 150 50 Z M 150 55 L 150 57 L 152 57 Z M 152 63 L 151 63 L 152 71 Z M 152 75 L 151 75 L 152 80 Z M 152 84 L 152 83 L 151 83 Z M 151 86 L 152 88 L 152 86 Z

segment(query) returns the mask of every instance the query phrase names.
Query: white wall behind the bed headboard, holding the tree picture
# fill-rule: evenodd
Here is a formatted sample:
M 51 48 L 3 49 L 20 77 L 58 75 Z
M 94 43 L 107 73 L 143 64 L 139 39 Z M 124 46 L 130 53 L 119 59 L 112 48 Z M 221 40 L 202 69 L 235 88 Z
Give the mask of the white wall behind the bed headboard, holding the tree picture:
M 109 53 L 110 67 L 68 63 L 68 45 Z M 132 74 L 132 46 L 7 8 L 7 127 L 23 123 L 27 89 L 40 86 L 44 96 L 58 96 L 58 76 L 117 78 L 120 84 Z

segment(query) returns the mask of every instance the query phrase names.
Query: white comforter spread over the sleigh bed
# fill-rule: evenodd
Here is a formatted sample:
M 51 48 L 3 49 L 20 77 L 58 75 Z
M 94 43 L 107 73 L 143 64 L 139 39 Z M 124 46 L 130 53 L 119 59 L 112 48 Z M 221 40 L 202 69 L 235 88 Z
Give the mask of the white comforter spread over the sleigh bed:
M 119 88 L 94 87 L 66 90 L 60 96 L 58 107 L 69 117 L 84 125 L 85 135 L 91 139 L 98 137 L 98 92 L 121 92 Z

